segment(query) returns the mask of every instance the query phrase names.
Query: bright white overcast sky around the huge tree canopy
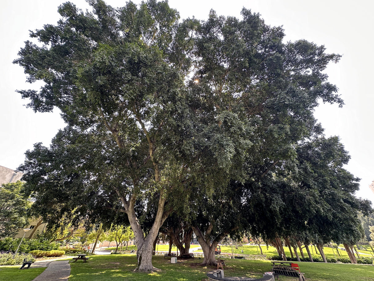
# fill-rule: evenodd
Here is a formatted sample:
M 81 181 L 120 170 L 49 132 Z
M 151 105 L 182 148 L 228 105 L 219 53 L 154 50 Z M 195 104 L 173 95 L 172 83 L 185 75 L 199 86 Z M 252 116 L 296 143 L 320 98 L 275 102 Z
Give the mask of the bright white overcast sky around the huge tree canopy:
M 34 113 L 23 106 L 26 101 L 15 92 L 28 89 L 20 66 L 13 65 L 17 52 L 28 40 L 28 30 L 55 24 L 60 18 L 57 7 L 63 0 L 2 0 L 0 6 L 0 165 L 16 169 L 36 142 L 49 145 L 58 129 L 65 127 L 58 112 Z M 85 10 L 84 0 L 71 0 Z M 125 1 L 107 0 L 114 7 Z M 134 1 L 139 3 L 140 1 Z M 372 93 L 374 2 L 337 0 L 170 0 L 181 18 L 206 19 L 210 9 L 218 15 L 240 17 L 242 7 L 259 12 L 266 24 L 283 25 L 286 40 L 306 39 L 325 45 L 327 52 L 343 55 L 326 72 L 344 99 L 343 108 L 321 105 L 315 116 L 327 136 L 338 135 L 352 156 L 347 169 L 361 178 L 356 194 L 374 202 L 368 188 L 374 180 L 374 130 Z

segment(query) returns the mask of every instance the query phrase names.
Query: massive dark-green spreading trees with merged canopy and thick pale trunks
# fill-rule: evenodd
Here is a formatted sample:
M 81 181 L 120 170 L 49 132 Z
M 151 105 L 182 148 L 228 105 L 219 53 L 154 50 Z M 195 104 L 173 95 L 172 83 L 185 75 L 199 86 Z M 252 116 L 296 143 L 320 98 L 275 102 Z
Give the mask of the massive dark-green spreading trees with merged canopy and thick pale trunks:
M 156 0 L 89 3 L 86 13 L 62 4 L 58 24 L 32 31 L 39 43 L 14 61 L 45 83 L 19 91 L 28 106 L 58 107 L 68 124 L 19 167 L 49 224 L 66 214 L 130 224 L 138 271 L 153 271 L 160 230 L 186 248 L 193 230 L 203 265 L 245 232 L 356 241 L 370 204 L 353 196 L 349 155 L 313 117 L 319 102 L 343 105 L 323 72 L 340 55 L 285 43 L 248 9 L 199 21 Z

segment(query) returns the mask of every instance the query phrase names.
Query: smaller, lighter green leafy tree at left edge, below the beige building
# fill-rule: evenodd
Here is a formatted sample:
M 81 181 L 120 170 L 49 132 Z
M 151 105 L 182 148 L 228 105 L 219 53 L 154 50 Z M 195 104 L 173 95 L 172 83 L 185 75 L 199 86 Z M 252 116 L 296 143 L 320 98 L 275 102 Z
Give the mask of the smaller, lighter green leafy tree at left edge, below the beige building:
M 21 181 L 2 184 L 0 187 L 0 238 L 15 236 L 26 225 L 27 209 L 31 203 L 21 194 Z

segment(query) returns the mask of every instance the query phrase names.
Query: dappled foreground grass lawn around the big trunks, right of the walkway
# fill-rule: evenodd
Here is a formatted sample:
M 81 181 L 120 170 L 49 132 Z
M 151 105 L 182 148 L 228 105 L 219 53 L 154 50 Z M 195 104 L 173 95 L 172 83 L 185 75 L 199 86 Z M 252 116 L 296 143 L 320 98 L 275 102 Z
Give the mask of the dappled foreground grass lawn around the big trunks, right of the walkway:
M 161 256 L 153 257 L 153 266 L 161 269 L 151 274 L 135 273 L 135 255 L 108 255 L 90 257 L 88 263 L 71 263 L 69 281 L 201 281 L 206 280 L 206 272 L 215 268 L 203 268 L 199 260 L 178 260 L 171 264 L 169 259 Z M 308 281 L 373 281 L 374 266 L 325 263 L 298 263 Z M 266 271 L 271 271 L 269 261 L 227 259 L 225 276 L 262 277 Z M 281 281 L 295 281 L 292 277 L 280 276 Z

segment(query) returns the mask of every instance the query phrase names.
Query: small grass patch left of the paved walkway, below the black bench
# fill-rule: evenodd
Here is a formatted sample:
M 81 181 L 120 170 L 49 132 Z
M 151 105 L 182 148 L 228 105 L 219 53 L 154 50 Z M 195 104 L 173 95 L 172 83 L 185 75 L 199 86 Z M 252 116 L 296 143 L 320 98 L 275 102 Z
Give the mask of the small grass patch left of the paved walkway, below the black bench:
M 46 268 L 32 268 L 19 270 L 20 266 L 0 266 L 0 281 L 31 281 Z

